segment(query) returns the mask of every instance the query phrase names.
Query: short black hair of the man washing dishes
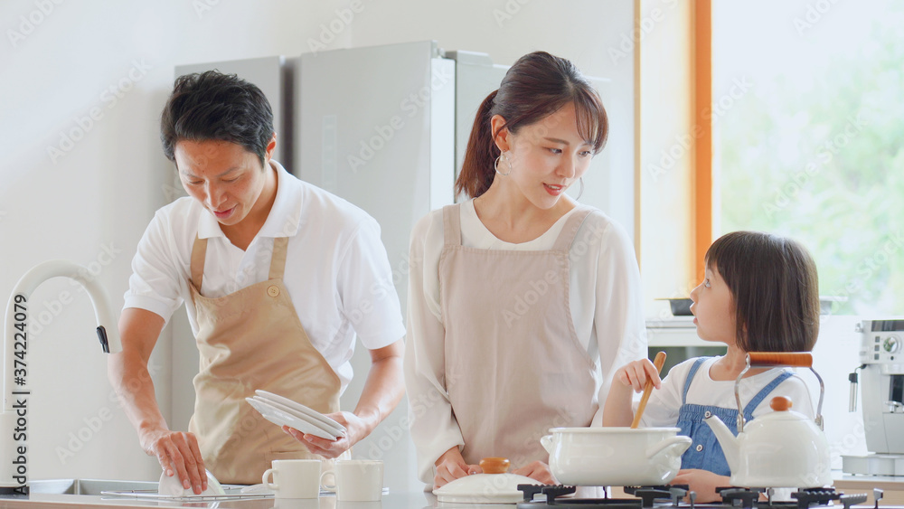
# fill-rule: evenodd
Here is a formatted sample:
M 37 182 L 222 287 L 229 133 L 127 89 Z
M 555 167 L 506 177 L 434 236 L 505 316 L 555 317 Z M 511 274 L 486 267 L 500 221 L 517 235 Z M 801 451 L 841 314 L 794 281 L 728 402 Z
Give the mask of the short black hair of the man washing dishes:
M 273 132 L 273 111 L 264 93 L 220 71 L 176 78 L 160 118 L 160 141 L 170 161 L 179 141 L 221 140 L 244 146 L 263 165 Z

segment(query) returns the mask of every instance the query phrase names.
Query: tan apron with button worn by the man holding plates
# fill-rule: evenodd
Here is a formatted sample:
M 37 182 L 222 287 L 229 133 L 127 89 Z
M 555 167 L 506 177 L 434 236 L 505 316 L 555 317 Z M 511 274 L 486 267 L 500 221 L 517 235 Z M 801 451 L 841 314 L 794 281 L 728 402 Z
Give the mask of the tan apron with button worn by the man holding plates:
M 282 281 L 287 237 L 273 243 L 269 279 L 225 297 L 201 295 L 207 239 L 192 250 L 201 370 L 189 430 L 218 480 L 258 484 L 273 459 L 321 458 L 251 408 L 246 397 L 270 391 L 322 413 L 339 410 L 339 377 L 315 349 Z

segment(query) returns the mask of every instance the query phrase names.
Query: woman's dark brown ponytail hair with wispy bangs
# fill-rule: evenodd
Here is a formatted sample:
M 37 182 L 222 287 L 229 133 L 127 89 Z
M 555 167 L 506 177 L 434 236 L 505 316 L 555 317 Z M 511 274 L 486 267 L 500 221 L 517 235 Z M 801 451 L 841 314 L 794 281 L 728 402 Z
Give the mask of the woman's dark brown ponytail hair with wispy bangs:
M 505 119 L 500 130 L 507 128 L 515 134 L 568 103 L 574 104 L 578 133 L 598 154 L 606 145 L 609 126 L 606 109 L 589 80 L 570 61 L 547 52 L 532 52 L 514 62 L 499 90 L 487 96 L 477 109 L 455 184 L 456 194 L 476 198 L 493 184 L 493 163 L 499 156 L 495 144 L 498 131 L 490 132 L 494 115 Z

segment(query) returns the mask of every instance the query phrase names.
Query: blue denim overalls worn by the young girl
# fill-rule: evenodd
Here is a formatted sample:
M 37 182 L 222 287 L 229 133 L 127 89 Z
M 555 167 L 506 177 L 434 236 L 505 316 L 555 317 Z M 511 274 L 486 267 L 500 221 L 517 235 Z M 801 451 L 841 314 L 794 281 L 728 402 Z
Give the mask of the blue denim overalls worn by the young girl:
M 725 460 L 725 454 L 719 445 L 719 440 L 712 433 L 710 425 L 703 422 L 703 419 L 714 415 L 721 419 L 726 426 L 729 427 L 731 433 L 738 436 L 738 410 L 731 408 L 725 409 L 712 405 L 693 405 L 687 403 L 687 391 L 691 387 L 693 375 L 700 369 L 701 364 L 710 357 L 701 357 L 693 363 L 691 372 L 687 373 L 687 379 L 684 381 L 684 391 L 682 394 L 682 406 L 678 410 L 677 427 L 681 429 L 680 435 L 691 437 L 693 442 L 691 447 L 684 452 L 681 457 L 682 468 L 701 468 L 709 470 L 720 476 L 730 476 L 731 470 L 728 462 Z M 753 419 L 753 410 L 756 409 L 761 401 L 763 401 L 775 389 L 779 383 L 785 382 L 788 377 L 792 376 L 792 372 L 782 372 L 775 380 L 769 382 L 766 387 L 754 396 L 747 406 L 744 408 L 744 419 L 749 421 Z

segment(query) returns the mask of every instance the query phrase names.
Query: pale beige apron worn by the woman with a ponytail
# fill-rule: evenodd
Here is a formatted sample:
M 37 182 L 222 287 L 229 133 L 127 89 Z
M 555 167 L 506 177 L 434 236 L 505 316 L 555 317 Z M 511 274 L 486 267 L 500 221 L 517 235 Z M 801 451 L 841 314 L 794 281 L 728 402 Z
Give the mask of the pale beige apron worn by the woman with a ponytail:
M 569 250 L 591 209 L 571 213 L 551 250 L 522 251 L 463 247 L 459 208 L 443 209 L 439 294 L 462 456 L 548 462 L 540 438 L 589 426 L 598 409 L 596 364 L 569 307 Z

